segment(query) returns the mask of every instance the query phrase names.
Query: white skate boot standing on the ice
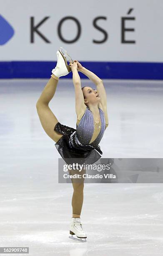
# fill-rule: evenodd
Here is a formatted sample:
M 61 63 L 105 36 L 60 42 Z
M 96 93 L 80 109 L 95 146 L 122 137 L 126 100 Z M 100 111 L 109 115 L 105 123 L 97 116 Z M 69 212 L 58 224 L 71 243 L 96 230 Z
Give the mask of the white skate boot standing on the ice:
M 71 225 L 70 225 L 70 235 L 69 238 L 73 240 L 78 240 L 81 242 L 86 242 L 87 235 L 83 230 L 82 224 L 80 223 L 80 218 L 72 218 Z M 73 237 L 76 235 L 77 238 Z M 78 239 L 80 238 L 80 239 Z M 84 240 L 82 240 L 84 239 Z

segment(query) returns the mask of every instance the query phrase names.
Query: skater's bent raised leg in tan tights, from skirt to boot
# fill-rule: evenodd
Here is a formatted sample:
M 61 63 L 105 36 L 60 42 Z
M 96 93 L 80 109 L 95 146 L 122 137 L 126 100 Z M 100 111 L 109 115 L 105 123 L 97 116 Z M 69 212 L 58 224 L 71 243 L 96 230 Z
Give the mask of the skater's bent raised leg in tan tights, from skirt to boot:
M 55 75 L 52 74 L 52 77 L 46 84 L 36 104 L 38 116 L 40 118 L 43 129 L 48 134 L 48 136 L 52 138 L 55 142 L 57 142 L 63 135 L 54 131 L 54 127 L 56 123 L 58 123 L 58 119 L 50 110 L 48 104 L 55 94 L 58 80 L 59 78 L 55 77 Z

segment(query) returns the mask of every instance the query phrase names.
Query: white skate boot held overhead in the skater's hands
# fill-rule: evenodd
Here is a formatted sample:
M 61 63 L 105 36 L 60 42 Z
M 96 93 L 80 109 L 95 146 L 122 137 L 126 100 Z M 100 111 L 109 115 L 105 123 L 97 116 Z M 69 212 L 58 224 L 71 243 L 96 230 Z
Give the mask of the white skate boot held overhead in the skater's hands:
M 71 68 L 67 63 L 67 60 L 63 53 L 59 50 L 57 51 L 57 65 L 55 69 L 52 70 L 52 74 L 56 77 L 63 77 L 71 72 Z

